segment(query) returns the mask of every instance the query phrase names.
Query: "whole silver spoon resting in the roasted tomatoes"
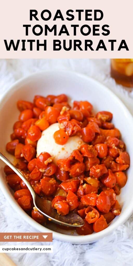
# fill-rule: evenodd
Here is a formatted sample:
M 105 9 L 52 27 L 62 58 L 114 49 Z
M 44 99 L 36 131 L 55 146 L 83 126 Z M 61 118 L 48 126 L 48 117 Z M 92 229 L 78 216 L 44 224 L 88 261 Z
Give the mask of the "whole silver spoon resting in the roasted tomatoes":
M 59 225 L 69 227 L 81 227 L 84 225 L 84 220 L 76 213 L 71 212 L 65 216 L 59 215 L 55 209 L 51 207 L 51 201 L 39 197 L 33 190 L 30 183 L 23 174 L 0 152 L 0 159 L 6 163 L 26 184 L 33 198 L 34 206 L 42 213 L 49 221 Z

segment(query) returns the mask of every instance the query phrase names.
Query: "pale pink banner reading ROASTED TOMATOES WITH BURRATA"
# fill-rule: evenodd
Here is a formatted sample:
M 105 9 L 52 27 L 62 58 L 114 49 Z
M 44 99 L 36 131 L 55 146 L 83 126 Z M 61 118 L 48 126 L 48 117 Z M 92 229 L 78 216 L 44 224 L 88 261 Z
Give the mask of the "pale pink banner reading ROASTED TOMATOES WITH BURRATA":
M 132 0 L 1 1 L 0 58 L 132 58 Z

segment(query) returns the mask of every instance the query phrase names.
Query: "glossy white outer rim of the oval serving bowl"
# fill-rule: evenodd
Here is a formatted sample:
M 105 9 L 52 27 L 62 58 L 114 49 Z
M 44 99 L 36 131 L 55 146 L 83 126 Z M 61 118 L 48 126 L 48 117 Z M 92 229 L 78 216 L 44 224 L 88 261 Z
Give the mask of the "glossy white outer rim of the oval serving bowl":
M 94 80 L 92 77 L 87 76 L 86 74 L 82 74 L 73 70 L 62 70 L 62 69 L 52 69 L 52 70 L 42 70 L 42 71 L 38 71 L 35 73 L 32 73 L 30 75 L 27 75 L 26 77 L 22 77 L 19 80 L 17 80 L 16 82 L 13 83 L 12 86 L 10 86 L 7 91 L 3 94 L 3 96 L 0 99 L 0 111 L 3 107 L 3 105 L 5 104 L 7 98 L 10 98 L 10 96 L 18 89 L 18 87 L 20 87 L 21 85 L 24 85 L 24 83 L 31 78 L 35 78 L 38 77 L 39 75 L 43 75 L 43 74 L 49 74 L 49 73 L 63 73 L 65 74 L 74 74 L 75 76 L 78 76 L 80 78 L 84 78 L 87 79 L 88 81 L 92 81 L 93 83 L 95 83 L 97 86 L 102 86 L 102 89 L 104 90 L 104 92 L 108 93 L 111 97 L 115 98 L 117 100 L 117 102 L 119 102 L 119 105 L 122 107 L 122 109 L 124 109 L 125 114 L 128 116 L 128 119 L 131 120 L 131 124 L 132 124 L 132 128 L 133 128 L 133 117 L 130 113 L 130 111 L 127 109 L 127 107 L 124 105 L 124 103 L 118 98 L 117 95 L 115 95 L 108 87 L 106 87 L 105 85 L 103 85 L 101 82 Z M 85 243 L 91 243 L 91 242 L 95 242 L 97 240 L 99 240 L 102 237 L 105 237 L 107 235 L 109 235 L 113 230 L 117 229 L 117 227 L 121 224 L 123 224 L 132 214 L 133 212 L 133 205 L 130 204 L 128 206 L 128 208 L 126 208 L 124 210 L 124 218 L 122 219 L 122 221 L 119 219 L 117 219 L 113 224 L 111 224 L 109 227 L 107 227 L 106 229 L 91 234 L 91 235 L 79 235 L 79 236 L 75 236 L 75 235 L 66 235 L 66 234 L 62 234 L 59 232 L 55 232 L 45 226 L 40 225 L 38 222 L 34 221 L 27 213 L 25 213 L 24 210 L 22 210 L 20 208 L 20 206 L 17 204 L 17 202 L 14 200 L 14 197 L 12 198 L 11 201 L 11 195 L 8 192 L 8 190 L 6 189 L 6 187 L 4 186 L 4 182 L 0 181 L 0 188 L 3 192 L 3 194 L 5 195 L 5 197 L 7 198 L 7 200 L 9 201 L 10 205 L 13 207 L 13 209 L 16 210 L 17 213 L 20 213 L 20 215 L 24 218 L 24 220 L 30 224 L 32 227 L 34 227 L 36 230 L 41 231 L 41 232 L 52 232 L 53 233 L 53 239 L 56 240 L 60 240 L 63 242 L 70 242 L 73 244 L 85 244 Z M 133 198 L 133 197 L 132 197 Z M 131 201 L 132 202 L 132 201 Z M 38 228 L 38 229 L 37 229 Z

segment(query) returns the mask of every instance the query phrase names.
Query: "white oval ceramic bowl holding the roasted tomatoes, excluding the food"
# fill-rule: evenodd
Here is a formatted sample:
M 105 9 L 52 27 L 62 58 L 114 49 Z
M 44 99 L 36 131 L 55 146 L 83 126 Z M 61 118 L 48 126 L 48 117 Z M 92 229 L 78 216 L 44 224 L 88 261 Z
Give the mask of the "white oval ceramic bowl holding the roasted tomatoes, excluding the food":
M 9 159 L 13 160 L 5 151 L 5 145 L 10 141 L 10 134 L 12 133 L 12 126 L 18 119 L 19 111 L 16 108 L 16 101 L 23 99 L 31 101 L 35 94 L 48 95 L 48 94 L 62 94 L 65 93 L 72 100 L 88 100 L 93 104 L 94 111 L 107 110 L 113 113 L 113 123 L 119 128 L 122 133 L 122 139 L 126 143 L 127 151 L 130 154 L 131 162 L 133 160 L 133 119 L 127 108 L 123 103 L 105 86 L 97 81 L 71 71 L 45 71 L 33 74 L 27 78 L 21 79 L 16 82 L 4 95 L 0 102 L 0 149 L 1 152 Z M 132 172 L 133 166 L 131 164 L 128 174 L 128 181 L 126 186 L 121 189 L 118 197 L 120 205 L 122 206 L 122 213 L 115 217 L 110 223 L 109 227 L 105 230 L 93 233 L 92 235 L 79 236 L 72 230 L 62 230 L 56 225 L 48 225 L 48 227 L 41 226 L 29 217 L 17 204 L 12 196 L 12 191 L 6 184 L 5 174 L 3 172 L 4 164 L 0 161 L 0 188 L 11 204 L 25 219 L 27 223 L 41 232 L 53 232 L 53 238 L 71 242 L 74 244 L 85 244 L 95 242 L 96 240 L 110 234 L 120 224 L 124 223 L 126 219 L 133 212 L 133 194 L 132 194 Z

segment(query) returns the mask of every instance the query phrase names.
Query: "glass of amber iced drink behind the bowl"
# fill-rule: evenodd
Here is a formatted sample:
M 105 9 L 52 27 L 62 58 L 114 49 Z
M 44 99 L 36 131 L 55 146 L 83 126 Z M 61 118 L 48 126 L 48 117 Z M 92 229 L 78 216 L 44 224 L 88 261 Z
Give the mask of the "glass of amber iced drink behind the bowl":
M 118 84 L 133 88 L 133 59 L 111 59 L 111 77 Z

